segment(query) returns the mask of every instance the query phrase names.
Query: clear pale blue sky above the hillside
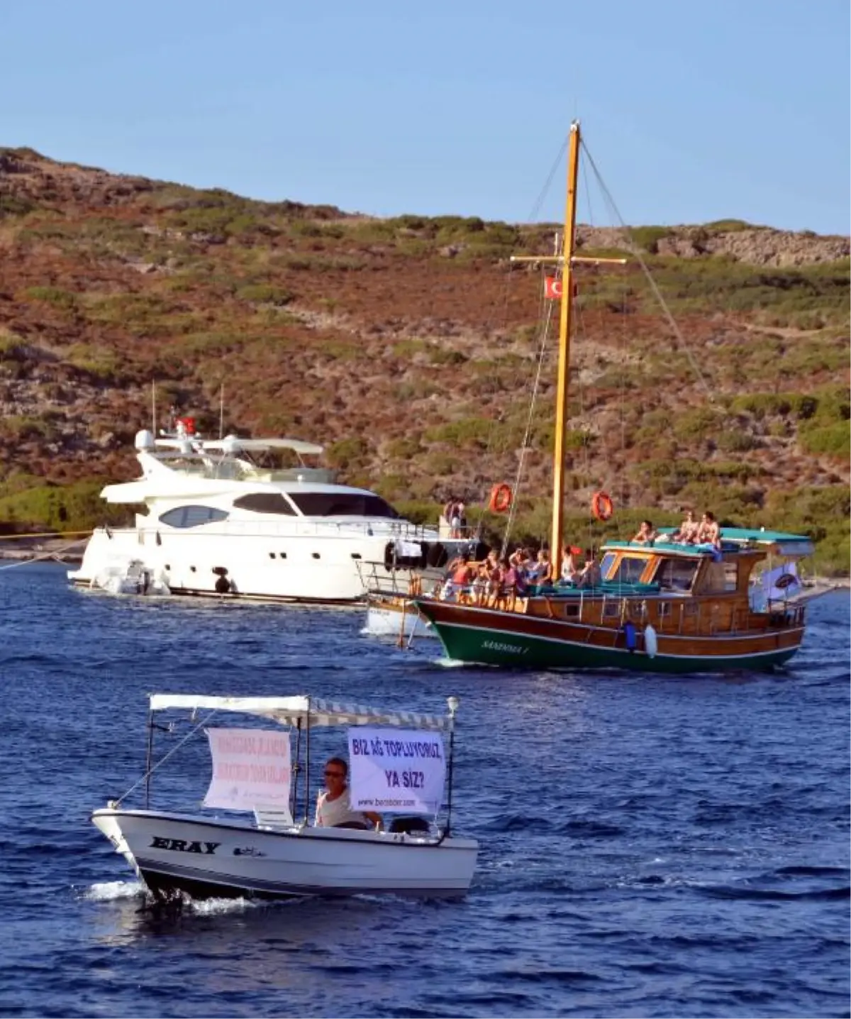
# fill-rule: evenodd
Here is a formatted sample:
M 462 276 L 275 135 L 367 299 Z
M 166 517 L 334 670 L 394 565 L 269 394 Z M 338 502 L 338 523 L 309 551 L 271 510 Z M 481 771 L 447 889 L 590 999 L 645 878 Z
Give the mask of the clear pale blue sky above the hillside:
M 629 223 L 851 234 L 851 0 L 2 0 L 0 38 L 0 145 L 57 159 L 525 221 L 578 115 Z

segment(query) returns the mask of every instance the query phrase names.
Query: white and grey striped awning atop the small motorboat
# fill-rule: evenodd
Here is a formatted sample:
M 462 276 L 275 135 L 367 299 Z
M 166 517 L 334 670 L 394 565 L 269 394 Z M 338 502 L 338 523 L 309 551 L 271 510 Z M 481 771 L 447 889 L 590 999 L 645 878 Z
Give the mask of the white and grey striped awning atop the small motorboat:
M 271 718 L 281 726 L 398 726 L 405 729 L 449 730 L 449 715 L 419 714 L 361 704 L 343 704 L 319 697 L 209 697 L 203 694 L 151 694 L 151 710 L 235 711 Z

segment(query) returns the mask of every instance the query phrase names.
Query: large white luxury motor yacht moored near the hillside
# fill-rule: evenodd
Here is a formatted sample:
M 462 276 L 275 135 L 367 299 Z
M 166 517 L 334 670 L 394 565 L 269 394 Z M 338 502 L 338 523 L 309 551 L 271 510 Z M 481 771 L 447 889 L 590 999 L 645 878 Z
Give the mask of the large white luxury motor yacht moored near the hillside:
M 379 581 L 446 561 L 453 539 L 403 520 L 375 492 L 306 466 L 323 447 L 288 438 L 204 440 L 135 437 L 141 477 L 107 485 L 107 502 L 140 505 L 135 526 L 99 527 L 77 585 L 113 593 L 227 595 L 280 601 L 353 602 L 362 574 Z M 298 466 L 266 470 L 258 454 L 290 450 Z M 375 564 L 375 566 L 373 566 Z

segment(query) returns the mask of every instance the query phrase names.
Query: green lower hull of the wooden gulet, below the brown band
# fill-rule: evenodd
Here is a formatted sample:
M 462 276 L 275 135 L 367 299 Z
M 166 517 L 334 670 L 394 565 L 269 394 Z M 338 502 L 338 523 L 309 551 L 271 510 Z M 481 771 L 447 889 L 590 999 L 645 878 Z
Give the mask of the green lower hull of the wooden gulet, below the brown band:
M 490 628 L 433 623 L 449 658 L 470 664 L 509 668 L 622 668 L 637 673 L 693 675 L 743 669 L 770 672 L 783 665 L 798 646 L 747 654 L 648 655 L 642 649 L 594 647 L 580 642 L 518 633 L 500 633 Z

